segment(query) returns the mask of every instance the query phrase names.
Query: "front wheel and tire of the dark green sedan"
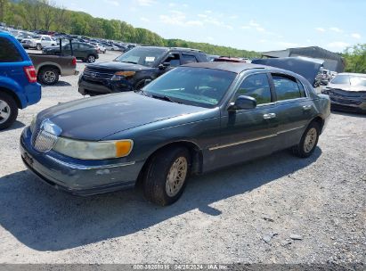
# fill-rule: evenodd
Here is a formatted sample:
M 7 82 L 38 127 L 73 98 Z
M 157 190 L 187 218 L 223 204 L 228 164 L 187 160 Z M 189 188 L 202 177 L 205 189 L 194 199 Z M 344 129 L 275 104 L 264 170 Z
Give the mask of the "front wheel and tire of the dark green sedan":
M 143 175 L 142 189 L 146 200 L 160 206 L 178 201 L 190 176 L 190 165 L 191 155 L 186 148 L 173 147 L 156 153 Z

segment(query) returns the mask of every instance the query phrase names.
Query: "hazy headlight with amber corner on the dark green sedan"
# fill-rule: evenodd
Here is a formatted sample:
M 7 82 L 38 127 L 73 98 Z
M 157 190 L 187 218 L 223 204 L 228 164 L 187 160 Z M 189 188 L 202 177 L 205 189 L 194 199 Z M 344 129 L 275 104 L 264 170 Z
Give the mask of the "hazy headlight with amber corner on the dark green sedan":
M 59 137 L 53 150 L 81 160 L 103 160 L 125 157 L 132 151 L 130 139 L 118 141 L 81 141 Z

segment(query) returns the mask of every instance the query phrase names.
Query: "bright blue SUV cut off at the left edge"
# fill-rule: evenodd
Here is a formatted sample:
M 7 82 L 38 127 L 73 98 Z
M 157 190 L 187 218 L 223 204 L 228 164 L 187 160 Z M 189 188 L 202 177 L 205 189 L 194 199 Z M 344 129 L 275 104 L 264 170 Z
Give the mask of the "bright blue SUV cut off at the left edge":
M 41 85 L 28 54 L 15 37 L 0 31 L 0 130 L 12 125 L 18 109 L 40 99 Z

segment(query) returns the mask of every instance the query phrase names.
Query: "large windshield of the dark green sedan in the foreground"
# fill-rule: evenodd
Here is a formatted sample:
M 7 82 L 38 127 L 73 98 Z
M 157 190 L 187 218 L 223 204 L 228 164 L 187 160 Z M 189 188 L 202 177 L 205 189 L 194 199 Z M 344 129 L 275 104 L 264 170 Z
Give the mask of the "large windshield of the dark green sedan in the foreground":
M 213 108 L 221 102 L 236 75 L 225 70 L 178 67 L 145 86 L 142 93 L 170 102 Z

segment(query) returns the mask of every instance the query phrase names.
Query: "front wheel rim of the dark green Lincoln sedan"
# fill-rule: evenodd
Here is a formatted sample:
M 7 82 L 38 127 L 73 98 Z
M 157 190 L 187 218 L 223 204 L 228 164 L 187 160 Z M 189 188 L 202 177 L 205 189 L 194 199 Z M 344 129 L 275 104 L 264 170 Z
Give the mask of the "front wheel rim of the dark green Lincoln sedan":
M 181 190 L 185 177 L 187 177 L 188 163 L 185 157 L 178 157 L 167 174 L 166 192 L 169 197 L 174 197 Z

